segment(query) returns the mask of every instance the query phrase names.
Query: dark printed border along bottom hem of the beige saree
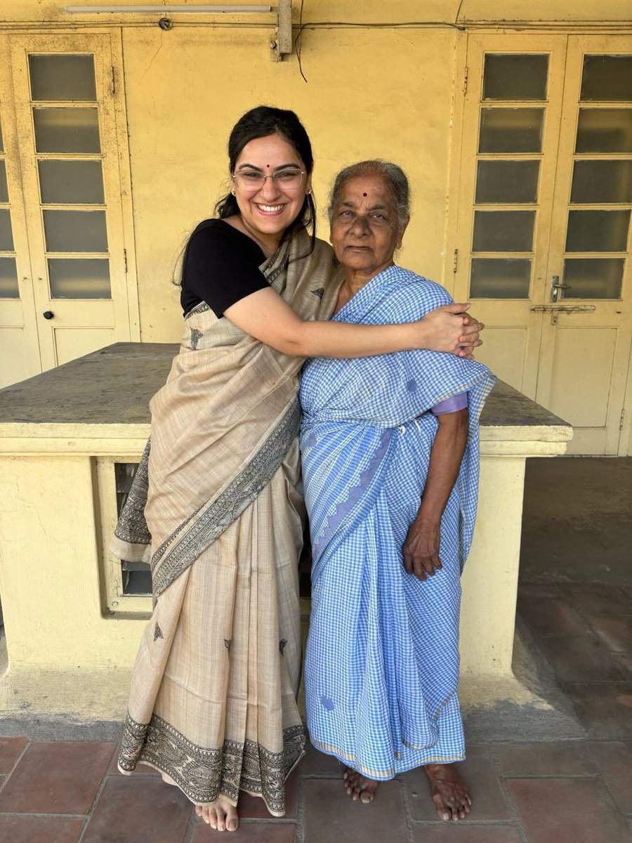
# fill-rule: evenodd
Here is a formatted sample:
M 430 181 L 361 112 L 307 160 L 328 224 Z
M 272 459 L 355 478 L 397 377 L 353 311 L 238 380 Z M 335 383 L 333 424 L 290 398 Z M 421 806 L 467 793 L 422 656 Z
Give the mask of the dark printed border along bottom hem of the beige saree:
M 195 804 L 222 794 L 237 802 L 239 790 L 261 796 L 270 813 L 285 812 L 285 781 L 305 751 L 303 726 L 283 730 L 283 749 L 270 752 L 254 741 L 225 740 L 222 747 L 194 744 L 162 717 L 139 723 L 127 713 L 119 768 L 131 773 L 139 761 L 169 776 Z

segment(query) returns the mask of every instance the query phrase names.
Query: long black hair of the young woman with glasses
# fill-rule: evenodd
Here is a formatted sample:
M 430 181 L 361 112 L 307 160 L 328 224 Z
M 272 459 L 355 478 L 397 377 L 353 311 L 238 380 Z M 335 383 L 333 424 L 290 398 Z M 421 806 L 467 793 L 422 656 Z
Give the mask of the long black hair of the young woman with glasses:
M 254 141 L 257 137 L 269 137 L 270 135 L 281 135 L 284 140 L 291 144 L 303 161 L 307 174 L 312 174 L 312 144 L 309 142 L 308 133 L 305 131 L 303 123 L 293 111 L 273 108 L 271 105 L 257 105 L 256 108 L 246 111 L 233 126 L 233 131 L 228 137 L 228 167 L 231 174 L 234 172 L 237 159 L 245 145 Z M 222 199 L 217 201 L 215 213 L 220 219 L 238 214 L 239 207 L 235 196 L 232 193 L 222 196 Z M 292 236 L 295 231 L 302 227 L 307 228 L 310 232 L 309 250 L 306 255 L 301 255 L 301 257 L 307 257 L 313 252 L 316 241 L 316 206 L 311 193 L 305 195 L 303 207 L 292 225 L 287 228 L 284 239 Z

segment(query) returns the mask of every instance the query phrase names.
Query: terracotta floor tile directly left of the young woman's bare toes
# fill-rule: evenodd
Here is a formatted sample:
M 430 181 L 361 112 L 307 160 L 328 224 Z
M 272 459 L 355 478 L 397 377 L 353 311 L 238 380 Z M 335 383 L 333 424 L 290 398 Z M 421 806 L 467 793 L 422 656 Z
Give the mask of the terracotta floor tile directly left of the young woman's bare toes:
M 82 843 L 182 843 L 192 809 L 153 776 L 108 776 Z

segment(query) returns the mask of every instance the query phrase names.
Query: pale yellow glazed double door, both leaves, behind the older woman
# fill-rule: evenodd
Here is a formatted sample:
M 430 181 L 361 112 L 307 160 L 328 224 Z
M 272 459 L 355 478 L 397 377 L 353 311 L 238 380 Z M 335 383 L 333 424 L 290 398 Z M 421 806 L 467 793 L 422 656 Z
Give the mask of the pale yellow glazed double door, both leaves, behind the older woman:
M 471 36 L 468 66 L 455 293 L 488 325 L 479 357 L 570 421 L 570 453 L 616 454 L 632 344 L 630 38 Z

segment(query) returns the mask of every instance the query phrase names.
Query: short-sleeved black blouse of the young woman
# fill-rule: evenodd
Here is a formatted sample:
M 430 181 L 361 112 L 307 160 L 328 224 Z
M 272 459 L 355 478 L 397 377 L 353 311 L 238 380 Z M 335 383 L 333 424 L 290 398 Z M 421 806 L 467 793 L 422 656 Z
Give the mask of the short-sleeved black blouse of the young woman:
M 185 314 L 206 302 L 217 317 L 239 299 L 270 285 L 260 272 L 265 255 L 248 234 L 222 219 L 200 223 L 185 250 L 180 303 Z

